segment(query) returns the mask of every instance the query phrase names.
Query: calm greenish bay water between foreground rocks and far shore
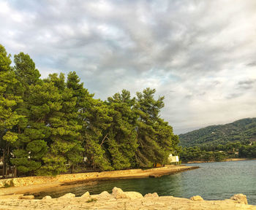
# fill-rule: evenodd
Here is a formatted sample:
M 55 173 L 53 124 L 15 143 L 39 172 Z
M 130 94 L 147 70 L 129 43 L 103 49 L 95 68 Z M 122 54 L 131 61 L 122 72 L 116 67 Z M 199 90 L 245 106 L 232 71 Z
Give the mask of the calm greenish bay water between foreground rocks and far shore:
M 65 193 L 79 196 L 86 191 L 99 194 L 104 190 L 110 193 L 113 187 L 120 187 L 124 191 L 137 191 L 143 195 L 154 192 L 182 198 L 201 195 L 205 200 L 223 200 L 243 193 L 250 204 L 256 205 L 256 160 L 187 165 L 200 168 L 160 178 L 119 179 L 56 187 L 54 191 L 48 190 L 36 196 L 58 198 Z

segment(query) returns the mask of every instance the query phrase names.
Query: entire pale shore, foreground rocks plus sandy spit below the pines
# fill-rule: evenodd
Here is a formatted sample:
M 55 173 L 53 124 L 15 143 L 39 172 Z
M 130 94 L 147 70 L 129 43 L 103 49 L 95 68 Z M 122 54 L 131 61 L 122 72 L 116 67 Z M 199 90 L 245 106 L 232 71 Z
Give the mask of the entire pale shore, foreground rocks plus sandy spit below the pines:
M 31 179 L 31 182 L 26 183 L 26 186 L 0 188 L 0 209 L 3 210 L 30 210 L 30 209 L 250 209 L 256 210 L 256 206 L 248 205 L 246 195 L 238 194 L 230 199 L 222 201 L 205 201 L 199 195 L 192 198 L 176 198 L 173 196 L 158 196 L 157 193 L 148 193 L 141 195 L 137 192 L 123 192 L 121 189 L 114 187 L 113 193 L 109 194 L 104 191 L 99 195 L 90 195 L 89 192 L 84 192 L 80 197 L 75 197 L 75 194 L 67 193 L 59 198 L 50 198 L 45 196 L 42 199 L 34 199 L 33 193 L 54 189 L 54 187 L 67 187 L 71 184 L 79 184 L 88 182 L 88 184 L 97 182 L 102 179 L 136 179 L 145 177 L 158 177 L 167 174 L 176 174 L 179 171 L 187 171 L 199 167 L 193 166 L 165 166 L 162 168 L 151 168 L 147 170 L 133 169 L 123 171 L 103 171 L 90 173 L 87 179 L 84 174 L 61 174 L 58 177 L 44 177 L 46 180 L 62 180 L 61 182 L 45 182 L 41 184 L 31 184 L 38 182 L 42 177 L 31 176 L 17 179 Z M 111 173 L 110 173 L 111 172 Z M 94 179 L 92 179 L 94 177 Z M 47 179 L 48 178 L 48 179 Z M 69 181 L 67 181 L 69 179 Z M 4 180 L 4 179 L 2 179 Z M 0 180 L 0 181 L 2 181 Z M 75 181 L 76 180 L 76 181 Z M 17 181 L 17 180 L 16 180 Z M 25 180 L 23 180 L 25 181 Z M 42 182 L 42 180 L 41 180 Z M 15 182 L 15 184 L 24 184 L 24 182 Z M 70 192 L 70 191 L 67 191 Z M 26 193 L 29 193 L 26 194 Z M 24 195 L 25 194 L 25 195 Z M 46 193 L 47 195 L 47 193 Z M 203 195 L 202 195 L 203 196 Z

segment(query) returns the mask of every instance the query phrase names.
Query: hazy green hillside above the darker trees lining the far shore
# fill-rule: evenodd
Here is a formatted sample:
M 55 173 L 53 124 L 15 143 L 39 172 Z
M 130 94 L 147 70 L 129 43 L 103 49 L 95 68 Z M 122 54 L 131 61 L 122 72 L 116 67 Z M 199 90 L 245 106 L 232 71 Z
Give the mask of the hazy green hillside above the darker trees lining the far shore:
M 256 141 L 256 117 L 237 120 L 225 125 L 211 125 L 179 135 L 181 146 L 226 144 L 227 141 Z

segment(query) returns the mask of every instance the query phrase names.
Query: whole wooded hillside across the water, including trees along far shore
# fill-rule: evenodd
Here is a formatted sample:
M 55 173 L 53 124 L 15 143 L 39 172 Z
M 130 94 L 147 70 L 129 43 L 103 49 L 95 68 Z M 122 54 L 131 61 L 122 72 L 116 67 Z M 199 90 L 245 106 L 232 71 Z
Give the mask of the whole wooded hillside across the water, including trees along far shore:
M 179 135 L 181 160 L 221 161 L 225 158 L 256 158 L 256 118 L 226 125 L 212 125 Z

